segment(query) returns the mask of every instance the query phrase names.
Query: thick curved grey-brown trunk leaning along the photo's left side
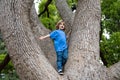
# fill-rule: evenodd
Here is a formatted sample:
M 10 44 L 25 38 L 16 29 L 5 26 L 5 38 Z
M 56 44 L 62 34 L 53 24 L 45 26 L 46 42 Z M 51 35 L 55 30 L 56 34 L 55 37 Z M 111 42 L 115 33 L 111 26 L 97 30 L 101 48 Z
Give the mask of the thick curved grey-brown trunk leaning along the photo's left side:
M 32 4 L 32 0 L 1 1 L 3 38 L 21 80 L 58 80 L 59 75 L 43 55 L 30 29 Z

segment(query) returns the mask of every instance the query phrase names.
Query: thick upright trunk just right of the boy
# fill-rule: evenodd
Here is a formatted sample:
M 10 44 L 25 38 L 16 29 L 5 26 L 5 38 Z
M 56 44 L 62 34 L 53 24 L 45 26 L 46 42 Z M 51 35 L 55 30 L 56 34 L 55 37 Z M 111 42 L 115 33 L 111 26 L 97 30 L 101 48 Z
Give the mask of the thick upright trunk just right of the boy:
M 71 80 L 109 80 L 105 67 L 99 63 L 100 2 L 79 0 L 78 4 L 70 39 L 67 74 Z

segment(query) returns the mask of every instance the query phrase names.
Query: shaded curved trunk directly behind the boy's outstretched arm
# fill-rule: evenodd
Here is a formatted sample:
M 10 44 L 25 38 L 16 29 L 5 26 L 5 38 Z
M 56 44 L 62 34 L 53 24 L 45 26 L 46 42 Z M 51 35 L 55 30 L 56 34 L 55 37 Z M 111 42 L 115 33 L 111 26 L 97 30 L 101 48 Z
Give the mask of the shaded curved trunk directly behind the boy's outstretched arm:
M 51 39 L 39 40 L 38 38 L 43 35 L 47 35 L 50 33 L 50 30 L 46 29 L 42 23 L 39 21 L 37 13 L 35 11 L 35 5 L 33 4 L 31 13 L 30 13 L 30 20 L 31 20 L 31 30 L 37 44 L 41 47 L 42 51 L 44 52 L 46 58 L 52 64 L 54 68 L 56 68 L 56 54 L 53 47 L 53 42 Z M 46 46 L 47 45 L 47 46 Z

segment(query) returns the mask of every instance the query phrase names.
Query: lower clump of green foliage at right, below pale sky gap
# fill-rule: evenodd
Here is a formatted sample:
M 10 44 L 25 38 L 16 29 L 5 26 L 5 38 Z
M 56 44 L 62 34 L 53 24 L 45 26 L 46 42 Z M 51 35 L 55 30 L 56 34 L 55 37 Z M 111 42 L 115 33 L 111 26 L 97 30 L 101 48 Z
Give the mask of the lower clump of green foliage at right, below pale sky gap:
M 109 39 L 103 36 L 100 45 L 107 62 L 106 66 L 109 67 L 120 61 L 120 32 L 114 32 Z

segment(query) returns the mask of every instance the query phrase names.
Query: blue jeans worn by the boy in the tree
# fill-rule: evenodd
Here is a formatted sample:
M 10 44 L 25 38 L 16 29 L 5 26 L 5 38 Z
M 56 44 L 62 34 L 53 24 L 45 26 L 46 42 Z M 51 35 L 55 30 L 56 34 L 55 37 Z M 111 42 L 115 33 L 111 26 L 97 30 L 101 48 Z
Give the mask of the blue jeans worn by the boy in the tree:
M 57 69 L 63 69 L 65 63 L 68 59 L 68 49 L 64 49 L 63 51 L 57 51 Z

